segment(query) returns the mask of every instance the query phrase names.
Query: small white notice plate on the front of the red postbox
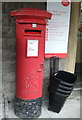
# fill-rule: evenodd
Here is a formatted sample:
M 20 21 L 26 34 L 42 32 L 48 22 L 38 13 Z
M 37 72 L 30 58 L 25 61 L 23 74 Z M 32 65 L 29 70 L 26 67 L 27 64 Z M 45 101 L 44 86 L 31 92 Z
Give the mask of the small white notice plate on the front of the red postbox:
M 38 40 L 27 40 L 27 57 L 38 56 Z

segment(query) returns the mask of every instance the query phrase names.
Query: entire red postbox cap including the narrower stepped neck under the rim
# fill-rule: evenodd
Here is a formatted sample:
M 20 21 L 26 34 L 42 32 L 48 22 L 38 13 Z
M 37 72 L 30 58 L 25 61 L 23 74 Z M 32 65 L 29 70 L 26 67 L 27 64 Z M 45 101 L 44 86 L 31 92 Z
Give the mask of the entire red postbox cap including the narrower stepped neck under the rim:
M 17 9 L 11 11 L 10 15 L 16 19 L 16 22 L 39 24 L 46 24 L 46 20 L 50 19 L 52 16 L 51 13 L 36 8 Z

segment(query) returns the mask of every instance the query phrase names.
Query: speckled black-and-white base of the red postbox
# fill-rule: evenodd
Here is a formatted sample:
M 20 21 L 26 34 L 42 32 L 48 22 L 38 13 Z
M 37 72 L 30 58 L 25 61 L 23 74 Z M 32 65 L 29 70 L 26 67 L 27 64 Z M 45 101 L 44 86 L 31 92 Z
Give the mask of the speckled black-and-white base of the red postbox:
M 15 114 L 19 118 L 37 118 L 41 115 L 42 98 L 21 100 L 15 97 Z

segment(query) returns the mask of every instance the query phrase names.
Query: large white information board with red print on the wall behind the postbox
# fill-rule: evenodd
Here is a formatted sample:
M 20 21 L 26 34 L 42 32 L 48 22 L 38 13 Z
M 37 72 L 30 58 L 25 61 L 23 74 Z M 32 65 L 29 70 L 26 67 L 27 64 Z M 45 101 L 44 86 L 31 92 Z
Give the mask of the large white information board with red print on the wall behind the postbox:
M 47 0 L 47 11 L 52 13 L 52 18 L 47 26 L 45 54 L 60 55 L 67 54 L 70 4 L 62 5 L 62 2 L 49 2 Z

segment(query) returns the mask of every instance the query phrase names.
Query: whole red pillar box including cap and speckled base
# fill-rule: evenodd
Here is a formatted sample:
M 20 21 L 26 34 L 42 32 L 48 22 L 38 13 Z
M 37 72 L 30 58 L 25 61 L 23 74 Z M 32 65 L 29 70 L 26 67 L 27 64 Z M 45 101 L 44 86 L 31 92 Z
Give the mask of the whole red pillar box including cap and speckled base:
M 36 118 L 41 114 L 45 29 L 51 13 L 24 8 L 10 15 L 16 19 L 15 114 Z

